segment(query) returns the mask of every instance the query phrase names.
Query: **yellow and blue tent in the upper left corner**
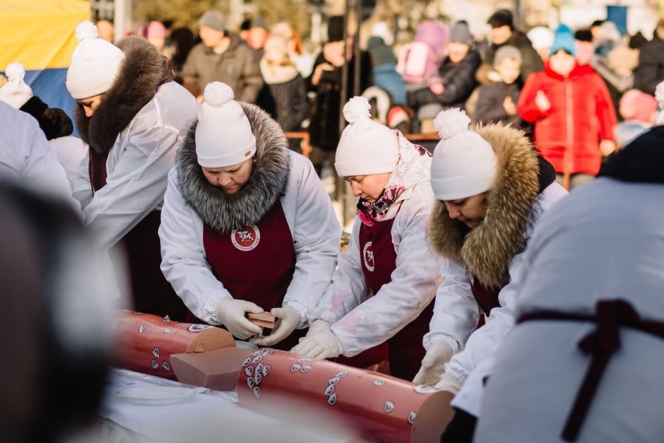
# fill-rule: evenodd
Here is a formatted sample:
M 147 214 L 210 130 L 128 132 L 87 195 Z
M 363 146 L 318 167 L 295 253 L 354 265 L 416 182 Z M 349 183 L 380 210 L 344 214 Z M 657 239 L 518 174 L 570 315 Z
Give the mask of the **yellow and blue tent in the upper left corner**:
M 89 1 L 0 0 L 0 71 L 13 61 L 23 64 L 32 93 L 71 116 L 65 79 L 83 20 L 90 20 Z

